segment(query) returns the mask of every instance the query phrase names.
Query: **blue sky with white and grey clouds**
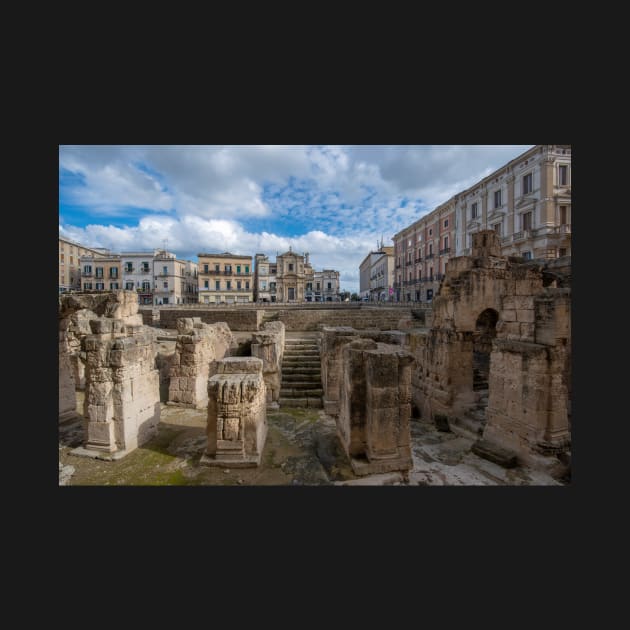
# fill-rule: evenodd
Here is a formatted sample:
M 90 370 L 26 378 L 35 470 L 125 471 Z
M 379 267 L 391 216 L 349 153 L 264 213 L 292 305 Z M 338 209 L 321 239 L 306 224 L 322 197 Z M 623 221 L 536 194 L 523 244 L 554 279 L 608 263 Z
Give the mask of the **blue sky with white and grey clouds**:
M 179 258 L 309 252 L 359 291 L 359 264 L 533 145 L 59 147 L 59 235 Z

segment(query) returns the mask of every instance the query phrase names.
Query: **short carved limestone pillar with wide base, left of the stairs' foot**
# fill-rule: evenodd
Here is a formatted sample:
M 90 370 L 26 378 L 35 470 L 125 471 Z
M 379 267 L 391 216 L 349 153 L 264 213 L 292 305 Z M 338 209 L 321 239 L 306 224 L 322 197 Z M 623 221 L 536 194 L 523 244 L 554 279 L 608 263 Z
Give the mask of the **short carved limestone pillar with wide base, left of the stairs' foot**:
M 247 468 L 260 464 L 267 437 L 263 361 L 229 357 L 208 381 L 208 446 L 200 463 Z

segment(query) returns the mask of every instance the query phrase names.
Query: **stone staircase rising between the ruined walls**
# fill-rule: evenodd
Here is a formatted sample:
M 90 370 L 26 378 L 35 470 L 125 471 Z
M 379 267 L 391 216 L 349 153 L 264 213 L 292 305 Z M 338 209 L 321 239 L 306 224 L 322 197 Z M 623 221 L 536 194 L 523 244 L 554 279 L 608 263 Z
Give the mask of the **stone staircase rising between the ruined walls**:
M 322 376 L 318 340 L 285 339 L 280 407 L 321 409 Z

